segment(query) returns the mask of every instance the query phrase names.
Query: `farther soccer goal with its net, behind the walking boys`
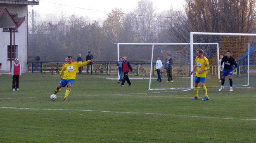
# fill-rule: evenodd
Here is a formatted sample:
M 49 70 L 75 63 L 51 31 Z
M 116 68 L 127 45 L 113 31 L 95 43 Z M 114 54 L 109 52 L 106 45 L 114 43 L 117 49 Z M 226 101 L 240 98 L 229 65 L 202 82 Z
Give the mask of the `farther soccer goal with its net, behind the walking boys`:
M 197 43 L 194 49 L 206 47 L 210 51 L 218 51 L 218 43 Z M 167 82 L 168 76 L 164 69 L 166 58 L 170 55 L 173 59 L 173 82 Z M 149 80 L 149 89 L 188 89 L 190 88 L 190 43 L 118 43 L 117 58 L 127 56 L 133 67 L 130 79 Z M 156 58 L 161 57 L 163 63 L 162 82 L 156 82 Z M 117 62 L 117 61 L 116 61 Z M 216 63 L 218 59 L 216 58 Z M 116 63 L 111 67 L 108 79 L 119 79 Z

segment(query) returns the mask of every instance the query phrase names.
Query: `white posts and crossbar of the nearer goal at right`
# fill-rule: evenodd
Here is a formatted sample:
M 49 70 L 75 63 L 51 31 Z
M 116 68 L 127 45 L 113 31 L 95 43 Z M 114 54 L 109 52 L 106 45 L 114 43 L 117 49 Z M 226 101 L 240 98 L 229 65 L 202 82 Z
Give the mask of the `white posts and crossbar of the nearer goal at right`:
M 229 36 L 229 37 L 232 37 L 232 36 L 234 36 L 234 37 L 235 36 L 242 36 L 242 37 L 244 37 L 244 36 L 247 36 L 247 37 L 253 36 L 253 38 L 256 36 L 256 34 L 245 34 L 245 33 L 201 33 L 201 32 L 191 32 L 190 33 L 190 60 L 191 60 L 190 63 L 194 62 L 194 59 L 193 59 L 193 45 L 196 44 L 196 43 L 194 43 L 194 37 L 193 37 L 194 35 L 205 35 L 205 36 L 212 36 L 212 35 L 214 36 L 214 35 L 216 35 L 216 36 Z M 232 43 L 233 41 L 229 41 L 229 42 Z M 239 43 L 239 41 L 238 41 L 238 43 Z M 249 53 L 250 52 L 250 43 L 246 43 L 246 44 L 248 44 L 248 53 Z M 234 49 L 235 49 L 235 47 L 234 47 Z M 238 47 L 238 49 L 239 49 L 239 47 Z M 218 57 L 219 57 L 219 52 L 218 52 Z M 248 66 L 248 70 L 247 70 L 247 72 L 248 72 L 248 75 L 247 75 L 248 76 L 248 82 L 247 82 L 247 85 L 249 85 L 249 64 L 250 64 L 249 63 L 249 58 L 250 58 L 250 56 L 248 54 L 248 65 L 247 65 Z M 193 67 L 194 67 L 194 65 L 191 64 L 190 69 L 193 69 Z M 191 84 L 190 88 L 193 89 L 193 74 L 190 75 L 190 81 L 191 81 L 190 82 L 190 84 Z

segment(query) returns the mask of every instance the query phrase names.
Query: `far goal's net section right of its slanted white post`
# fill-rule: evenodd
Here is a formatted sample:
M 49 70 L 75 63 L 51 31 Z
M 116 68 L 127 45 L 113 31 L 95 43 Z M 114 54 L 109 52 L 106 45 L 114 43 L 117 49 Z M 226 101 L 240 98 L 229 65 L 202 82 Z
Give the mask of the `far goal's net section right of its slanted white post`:
M 161 61 L 163 63 L 160 76 L 162 82 L 151 81 L 149 89 L 189 89 L 190 88 L 190 43 L 172 43 L 168 46 L 158 45 L 158 50 L 161 53 Z M 197 43 L 194 49 L 207 47 L 209 51 L 217 50 L 218 43 Z M 166 67 L 168 55 L 172 59 L 171 69 Z M 155 59 L 157 56 L 154 56 Z M 156 60 L 154 60 L 156 61 Z M 217 59 L 216 59 L 217 61 Z M 154 71 L 156 71 L 155 66 Z M 168 71 L 168 70 L 171 70 Z M 157 73 L 155 72 L 157 77 Z M 152 87 L 152 88 L 151 88 Z

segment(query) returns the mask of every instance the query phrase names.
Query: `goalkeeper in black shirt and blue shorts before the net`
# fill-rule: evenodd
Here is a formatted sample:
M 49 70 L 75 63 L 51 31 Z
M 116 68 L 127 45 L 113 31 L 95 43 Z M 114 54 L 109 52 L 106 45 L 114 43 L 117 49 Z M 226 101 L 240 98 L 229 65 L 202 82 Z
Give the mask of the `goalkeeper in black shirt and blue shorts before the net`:
M 222 68 L 222 64 L 224 64 L 224 69 Z M 221 60 L 220 63 L 220 71 L 223 71 L 222 74 L 222 79 L 221 79 L 221 87 L 219 89 L 219 91 L 221 91 L 222 89 L 224 89 L 224 83 L 225 83 L 225 77 L 228 76 L 229 78 L 229 84 L 230 84 L 230 92 L 233 91 L 232 89 L 232 85 L 233 85 L 233 81 L 232 81 L 232 75 L 237 75 L 237 62 L 236 60 L 231 56 L 231 52 L 227 51 L 227 56 L 224 56 L 223 59 Z M 234 65 L 235 65 L 235 69 L 234 69 Z

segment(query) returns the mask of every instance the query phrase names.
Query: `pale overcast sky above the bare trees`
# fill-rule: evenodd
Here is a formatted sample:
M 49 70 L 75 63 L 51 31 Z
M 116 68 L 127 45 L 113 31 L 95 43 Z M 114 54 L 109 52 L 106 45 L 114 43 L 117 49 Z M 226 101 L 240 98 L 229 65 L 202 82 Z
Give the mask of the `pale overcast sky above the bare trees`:
M 90 21 L 104 20 L 111 10 L 122 8 L 125 13 L 133 11 L 140 0 L 40 0 L 39 5 L 28 6 L 28 21 L 31 22 L 32 9 L 36 21 L 53 21 L 52 14 L 64 12 L 67 16 L 72 14 L 88 17 Z M 156 6 L 157 12 L 182 9 L 184 0 L 150 0 Z

